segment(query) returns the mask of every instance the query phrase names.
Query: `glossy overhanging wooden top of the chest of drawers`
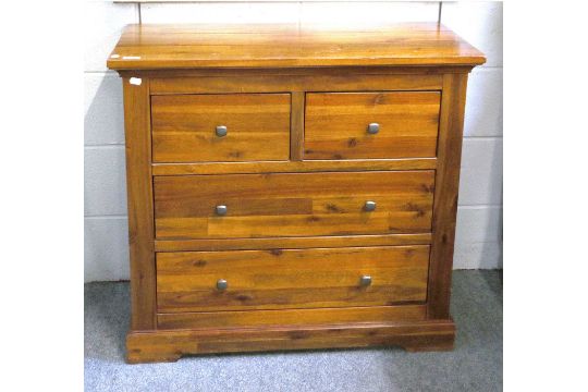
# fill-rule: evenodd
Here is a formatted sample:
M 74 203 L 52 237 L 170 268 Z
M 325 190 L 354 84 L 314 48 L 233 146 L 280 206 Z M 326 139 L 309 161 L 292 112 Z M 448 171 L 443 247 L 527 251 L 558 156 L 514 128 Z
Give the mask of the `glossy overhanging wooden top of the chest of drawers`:
M 113 70 L 481 64 L 483 56 L 434 22 L 387 26 L 128 25 Z

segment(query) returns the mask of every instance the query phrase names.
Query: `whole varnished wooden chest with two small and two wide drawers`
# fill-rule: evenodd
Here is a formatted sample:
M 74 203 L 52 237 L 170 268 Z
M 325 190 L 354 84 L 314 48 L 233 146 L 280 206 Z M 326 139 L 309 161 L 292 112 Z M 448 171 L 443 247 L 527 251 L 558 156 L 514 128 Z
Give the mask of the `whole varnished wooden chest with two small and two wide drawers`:
M 451 350 L 467 75 L 443 26 L 131 25 L 131 363 Z

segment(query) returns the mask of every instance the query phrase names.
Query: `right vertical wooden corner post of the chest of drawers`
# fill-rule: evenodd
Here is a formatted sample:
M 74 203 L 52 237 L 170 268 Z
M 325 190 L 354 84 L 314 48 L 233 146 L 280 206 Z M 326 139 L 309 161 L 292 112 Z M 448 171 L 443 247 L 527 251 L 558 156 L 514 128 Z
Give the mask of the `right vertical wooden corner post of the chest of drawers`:
M 433 207 L 428 317 L 450 317 L 451 273 L 460 191 L 467 74 L 445 75 L 439 131 L 439 169 Z

